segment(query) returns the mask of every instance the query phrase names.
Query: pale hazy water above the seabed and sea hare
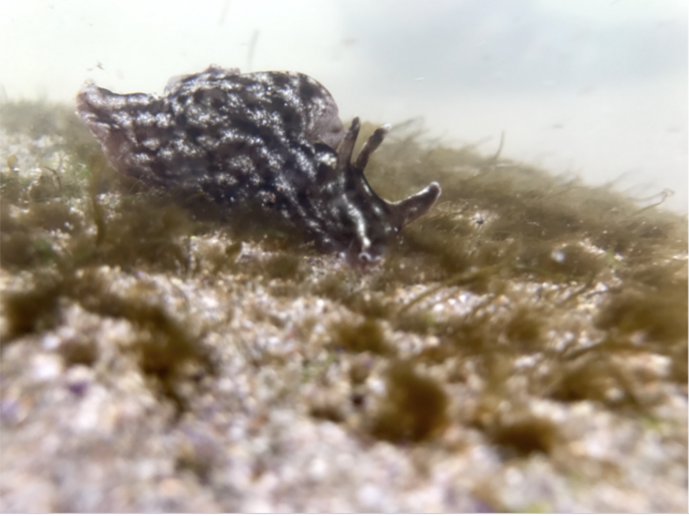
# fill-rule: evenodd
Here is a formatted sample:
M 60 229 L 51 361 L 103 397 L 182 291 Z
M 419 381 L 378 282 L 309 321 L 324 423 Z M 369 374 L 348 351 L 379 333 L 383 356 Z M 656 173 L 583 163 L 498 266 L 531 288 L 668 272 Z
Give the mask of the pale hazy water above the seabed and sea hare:
M 685 0 L 0 1 L 4 99 L 158 92 L 210 63 L 296 70 L 342 118 L 431 134 L 687 212 Z M 0 113 L 1 116 L 1 113 Z

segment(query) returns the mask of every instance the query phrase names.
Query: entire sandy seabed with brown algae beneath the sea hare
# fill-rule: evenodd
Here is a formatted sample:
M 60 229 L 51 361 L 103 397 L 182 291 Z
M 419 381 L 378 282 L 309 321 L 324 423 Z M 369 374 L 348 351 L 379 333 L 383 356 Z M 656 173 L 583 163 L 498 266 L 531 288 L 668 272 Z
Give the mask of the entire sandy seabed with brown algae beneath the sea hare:
M 393 127 L 363 274 L 2 109 L 3 510 L 687 510 L 685 219 Z

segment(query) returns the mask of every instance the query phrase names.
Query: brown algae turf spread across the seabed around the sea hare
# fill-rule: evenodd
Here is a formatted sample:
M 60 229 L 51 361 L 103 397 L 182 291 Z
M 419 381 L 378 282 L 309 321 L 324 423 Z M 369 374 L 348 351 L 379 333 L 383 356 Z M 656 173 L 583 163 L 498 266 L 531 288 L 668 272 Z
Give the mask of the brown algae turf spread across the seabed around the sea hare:
M 657 399 L 646 386 L 662 375 L 625 362 L 647 355 L 669 360 L 668 381 L 686 389 L 686 218 L 644 209 L 610 187 L 393 130 L 367 169 L 373 189 L 403 198 L 438 180 L 440 204 L 402 231 L 378 268 L 362 273 L 324 259 L 329 265 L 316 271 L 307 260 L 322 257 L 312 247 L 251 207 L 228 212 L 198 192 L 152 192 L 115 174 L 63 107 L 2 110 L 0 262 L 12 277 L 31 278 L 3 293 L 3 349 L 60 324 L 65 302 L 79 302 L 133 324 L 141 371 L 184 408 L 183 364 L 213 369 L 203 339 L 186 315 L 150 302 L 150 292 L 114 296 L 107 285 L 88 285 L 107 266 L 328 300 L 345 314 L 325 329 L 330 349 L 372 355 L 387 371 L 379 411 L 357 426 L 376 439 L 432 440 L 458 421 L 510 453 L 548 454 L 559 433 L 524 409 L 532 397 L 648 411 Z M 372 131 L 364 125 L 360 141 Z M 39 152 L 36 138 L 52 144 Z M 245 243 L 263 254 L 240 259 Z M 435 344 L 402 353 L 398 340 L 408 338 Z M 99 360 L 89 342 L 64 353 L 71 364 Z M 351 371 L 364 386 L 369 370 Z M 478 408 L 453 412 L 448 390 L 473 375 Z M 516 408 L 499 411 L 496 396 Z

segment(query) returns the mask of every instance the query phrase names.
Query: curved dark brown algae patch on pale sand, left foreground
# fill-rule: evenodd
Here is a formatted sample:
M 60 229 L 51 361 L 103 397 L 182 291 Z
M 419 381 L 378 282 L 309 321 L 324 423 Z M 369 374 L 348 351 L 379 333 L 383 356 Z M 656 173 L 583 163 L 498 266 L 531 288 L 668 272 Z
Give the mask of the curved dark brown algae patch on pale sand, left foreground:
M 113 291 L 107 275 L 92 267 L 54 275 L 41 271 L 27 289 L 3 295 L 3 315 L 8 320 L 3 344 L 28 333 L 47 331 L 61 324 L 61 305 L 76 303 L 90 313 L 105 318 L 121 318 L 134 329 L 125 353 L 133 355 L 152 389 L 172 400 L 183 411 L 187 400 L 178 391 L 178 382 L 191 367 L 205 374 L 215 373 L 214 363 L 201 339 L 203 329 L 190 329 L 184 316 L 173 315 L 156 289 L 146 281 L 124 292 Z M 65 364 L 92 365 L 99 358 L 93 338 L 76 334 L 60 348 Z

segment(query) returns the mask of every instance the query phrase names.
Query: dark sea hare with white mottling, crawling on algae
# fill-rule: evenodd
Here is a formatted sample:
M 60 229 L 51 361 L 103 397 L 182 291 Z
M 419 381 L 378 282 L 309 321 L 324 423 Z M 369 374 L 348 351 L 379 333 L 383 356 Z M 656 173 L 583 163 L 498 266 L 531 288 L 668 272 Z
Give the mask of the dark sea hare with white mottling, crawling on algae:
M 440 195 L 431 183 L 399 203 L 378 197 L 363 172 L 389 127 L 376 130 L 353 161 L 358 118 L 345 132 L 332 96 L 303 74 L 211 66 L 170 79 L 163 96 L 87 83 L 76 103 L 122 174 L 201 189 L 222 203 L 258 201 L 356 265 L 378 261 Z

